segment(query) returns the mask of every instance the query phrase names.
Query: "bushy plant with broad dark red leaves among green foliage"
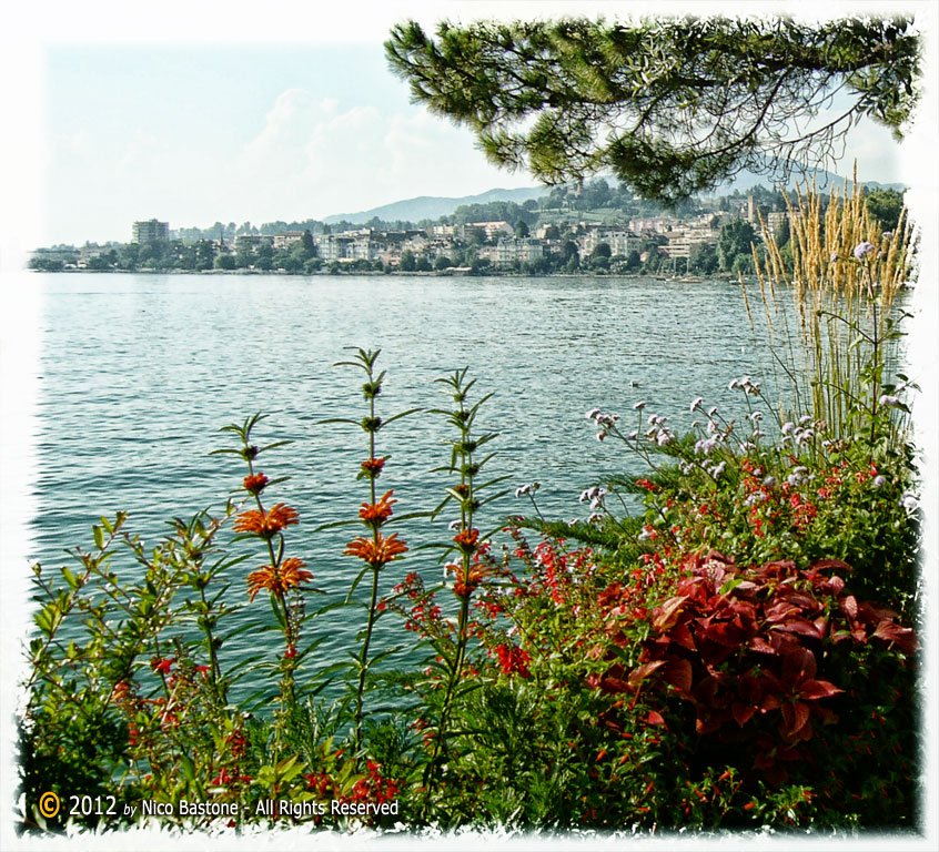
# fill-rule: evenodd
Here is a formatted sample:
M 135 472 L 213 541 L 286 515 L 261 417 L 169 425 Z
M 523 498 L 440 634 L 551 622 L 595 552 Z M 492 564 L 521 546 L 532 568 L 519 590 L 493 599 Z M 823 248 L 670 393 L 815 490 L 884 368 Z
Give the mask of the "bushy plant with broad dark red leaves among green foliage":
M 676 594 L 648 615 L 639 665 L 627 671 L 610 653 L 595 686 L 634 694 L 645 687 L 646 703 L 652 688 L 689 703 L 698 737 L 746 749 L 753 769 L 773 784 L 786 781 L 787 762 L 810 759 L 804 746 L 819 724 L 838 721 L 846 690 L 821 672 L 836 646 L 878 641 L 906 656 L 917 648 L 913 630 L 897 623 L 895 612 L 846 592 L 836 571 L 850 567 L 839 560 L 808 570 L 787 560 L 740 568 L 710 551 L 688 557 L 684 568 Z M 623 606 L 622 589 L 608 589 L 599 602 L 608 636 L 622 645 L 623 619 L 640 612 Z

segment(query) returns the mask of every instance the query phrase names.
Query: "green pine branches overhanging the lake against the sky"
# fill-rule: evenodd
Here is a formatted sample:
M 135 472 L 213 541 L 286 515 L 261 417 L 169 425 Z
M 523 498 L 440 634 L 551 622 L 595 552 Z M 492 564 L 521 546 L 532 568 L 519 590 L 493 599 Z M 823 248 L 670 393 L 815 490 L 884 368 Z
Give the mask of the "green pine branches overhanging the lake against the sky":
M 408 21 L 385 49 L 413 99 L 495 163 L 548 184 L 612 170 L 665 201 L 825 164 L 865 115 L 899 138 L 920 61 L 906 18 L 443 22 L 435 39 Z

